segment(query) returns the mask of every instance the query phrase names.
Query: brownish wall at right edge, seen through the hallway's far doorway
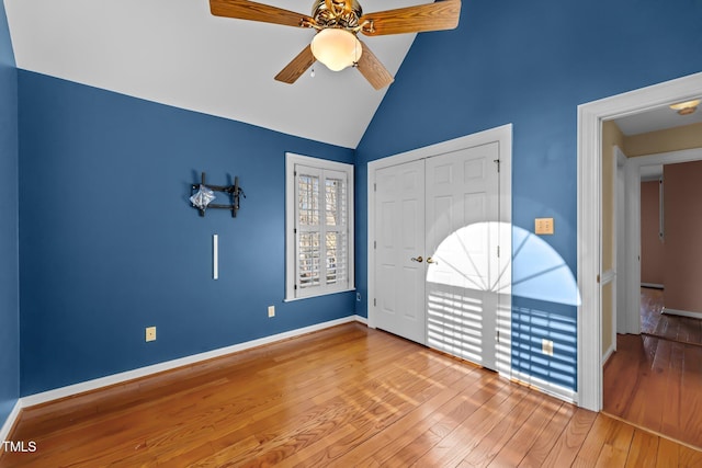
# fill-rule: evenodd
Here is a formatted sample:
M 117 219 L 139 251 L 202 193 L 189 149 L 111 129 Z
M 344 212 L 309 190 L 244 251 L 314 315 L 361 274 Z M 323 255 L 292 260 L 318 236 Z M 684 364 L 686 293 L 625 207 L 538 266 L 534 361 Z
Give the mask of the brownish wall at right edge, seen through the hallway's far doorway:
M 666 164 L 664 209 L 667 308 L 702 312 L 702 161 Z

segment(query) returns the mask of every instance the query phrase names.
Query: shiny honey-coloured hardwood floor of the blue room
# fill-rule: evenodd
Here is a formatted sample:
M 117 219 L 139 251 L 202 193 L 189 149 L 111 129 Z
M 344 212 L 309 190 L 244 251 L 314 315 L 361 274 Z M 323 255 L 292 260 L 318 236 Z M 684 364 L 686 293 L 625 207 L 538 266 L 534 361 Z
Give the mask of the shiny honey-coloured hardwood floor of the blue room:
M 37 450 L 1 467 L 702 465 L 684 445 L 358 323 L 25 409 L 10 438 Z

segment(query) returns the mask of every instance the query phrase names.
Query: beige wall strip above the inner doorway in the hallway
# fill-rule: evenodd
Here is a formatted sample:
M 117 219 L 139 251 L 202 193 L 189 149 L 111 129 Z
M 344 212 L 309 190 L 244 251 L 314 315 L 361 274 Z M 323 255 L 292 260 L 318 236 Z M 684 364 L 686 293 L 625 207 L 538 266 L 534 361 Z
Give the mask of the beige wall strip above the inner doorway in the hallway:
M 633 158 L 692 148 L 702 148 L 702 123 L 625 137 L 623 150 Z

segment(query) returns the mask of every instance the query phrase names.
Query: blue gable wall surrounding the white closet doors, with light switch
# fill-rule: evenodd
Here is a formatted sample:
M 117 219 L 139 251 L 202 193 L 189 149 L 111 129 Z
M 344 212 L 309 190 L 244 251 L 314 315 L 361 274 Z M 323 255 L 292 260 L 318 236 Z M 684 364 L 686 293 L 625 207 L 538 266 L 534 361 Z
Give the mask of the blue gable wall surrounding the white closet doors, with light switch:
M 513 222 L 533 230 L 534 218 L 553 217 L 544 239 L 575 274 L 577 105 L 701 71 L 700 24 L 700 0 L 464 0 L 457 30 L 418 35 L 356 151 L 363 297 L 367 162 L 507 123 Z M 516 255 L 513 276 L 528 269 Z M 513 367 L 575 389 L 576 308 L 529 296 L 513 296 Z

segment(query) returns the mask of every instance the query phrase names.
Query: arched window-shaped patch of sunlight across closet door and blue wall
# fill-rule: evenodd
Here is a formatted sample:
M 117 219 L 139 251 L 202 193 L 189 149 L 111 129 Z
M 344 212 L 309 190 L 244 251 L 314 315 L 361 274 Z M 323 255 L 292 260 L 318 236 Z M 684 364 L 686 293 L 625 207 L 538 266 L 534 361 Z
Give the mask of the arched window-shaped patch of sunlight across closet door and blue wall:
M 511 270 L 510 262 L 500 265 L 495 254 L 497 246 L 490 244 L 495 239 L 501 239 L 500 244 L 509 244 L 505 242 L 506 236 L 511 236 L 514 249 Z M 577 283 L 563 258 L 534 233 L 503 222 L 475 222 L 443 239 L 431 255 L 427 287 L 429 345 L 490 368 L 500 366 L 500 362 L 509 363 L 511 358 L 509 345 L 499 336 L 500 330 L 511 332 L 499 322 L 509 323 L 512 309 L 509 299 L 505 304 L 500 297 L 519 296 L 566 306 L 580 304 Z M 548 316 L 539 310 L 528 311 L 528 327 L 541 320 L 540 313 Z M 523 319 L 520 315 L 520 323 Z M 558 341 L 559 349 L 575 350 L 575 334 L 565 336 L 557 318 L 546 320 L 556 330 L 552 340 Z M 550 329 L 542 328 L 544 331 Z M 525 335 L 524 332 L 524 329 L 520 330 L 521 340 L 524 336 L 529 340 L 532 333 L 539 334 L 534 330 Z M 541 346 L 541 335 L 536 334 L 531 338 Z M 533 347 L 531 343 L 525 345 L 529 350 Z M 566 385 L 571 386 L 575 381 L 571 368 L 556 369 L 564 365 L 564 358 L 568 361 L 570 356 L 556 356 L 543 367 L 553 379 L 567 380 Z M 531 368 L 534 369 L 533 365 Z M 556 374 L 566 377 L 556 378 Z

